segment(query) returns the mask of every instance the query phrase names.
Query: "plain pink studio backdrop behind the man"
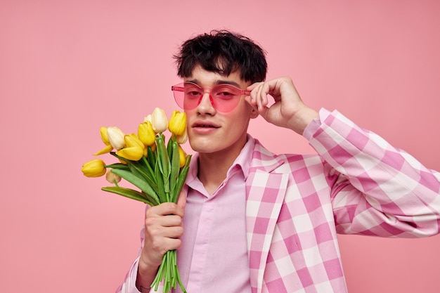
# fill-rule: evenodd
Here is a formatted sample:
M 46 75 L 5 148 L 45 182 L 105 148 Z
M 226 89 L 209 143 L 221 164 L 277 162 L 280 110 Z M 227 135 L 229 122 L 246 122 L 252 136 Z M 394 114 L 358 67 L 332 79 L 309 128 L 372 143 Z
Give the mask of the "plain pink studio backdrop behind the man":
M 114 292 L 144 207 L 80 169 L 103 147 L 99 126 L 134 132 L 156 106 L 176 109 L 171 56 L 196 33 L 259 41 L 268 78 L 289 75 L 309 105 L 440 170 L 439 15 L 436 0 L 0 1 L 1 292 Z M 250 133 L 312 152 L 261 118 Z M 439 292 L 440 236 L 340 240 L 351 292 Z

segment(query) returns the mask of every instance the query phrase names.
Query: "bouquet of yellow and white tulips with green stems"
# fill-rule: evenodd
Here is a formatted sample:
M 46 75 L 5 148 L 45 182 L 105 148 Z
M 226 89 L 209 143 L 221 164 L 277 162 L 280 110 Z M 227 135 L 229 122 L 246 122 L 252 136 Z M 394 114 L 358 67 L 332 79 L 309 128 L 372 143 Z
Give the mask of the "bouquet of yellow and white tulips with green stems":
M 172 136 L 165 145 L 163 132 L 167 129 Z M 102 190 L 145 202 L 150 206 L 163 202 L 177 202 L 188 175 L 191 159 L 181 148 L 181 144 L 188 139 L 184 112 L 174 111 L 168 122 L 164 110 L 155 108 L 153 113 L 139 124 L 137 135 L 124 134 L 115 126 L 101 127 L 100 131 L 105 148 L 94 155 L 110 152 L 119 162 L 105 164 L 102 159 L 92 159 L 82 166 L 84 176 L 99 177 L 106 174 L 107 181 L 115 185 L 103 187 Z M 139 190 L 119 186 L 122 178 Z M 164 254 L 151 288 L 157 291 L 162 280 L 163 292 L 176 288 L 177 282 L 182 291 L 186 292 L 177 268 L 176 250 Z

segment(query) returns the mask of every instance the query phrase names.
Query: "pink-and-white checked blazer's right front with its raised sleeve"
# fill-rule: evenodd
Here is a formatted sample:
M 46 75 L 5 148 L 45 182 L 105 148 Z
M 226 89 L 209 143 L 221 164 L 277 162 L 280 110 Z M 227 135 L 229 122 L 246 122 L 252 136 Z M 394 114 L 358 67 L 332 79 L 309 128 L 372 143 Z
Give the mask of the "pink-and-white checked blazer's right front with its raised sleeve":
M 439 233 L 440 174 L 332 112 L 318 155 L 273 155 L 258 141 L 247 177 L 252 292 L 347 292 L 336 233 Z

